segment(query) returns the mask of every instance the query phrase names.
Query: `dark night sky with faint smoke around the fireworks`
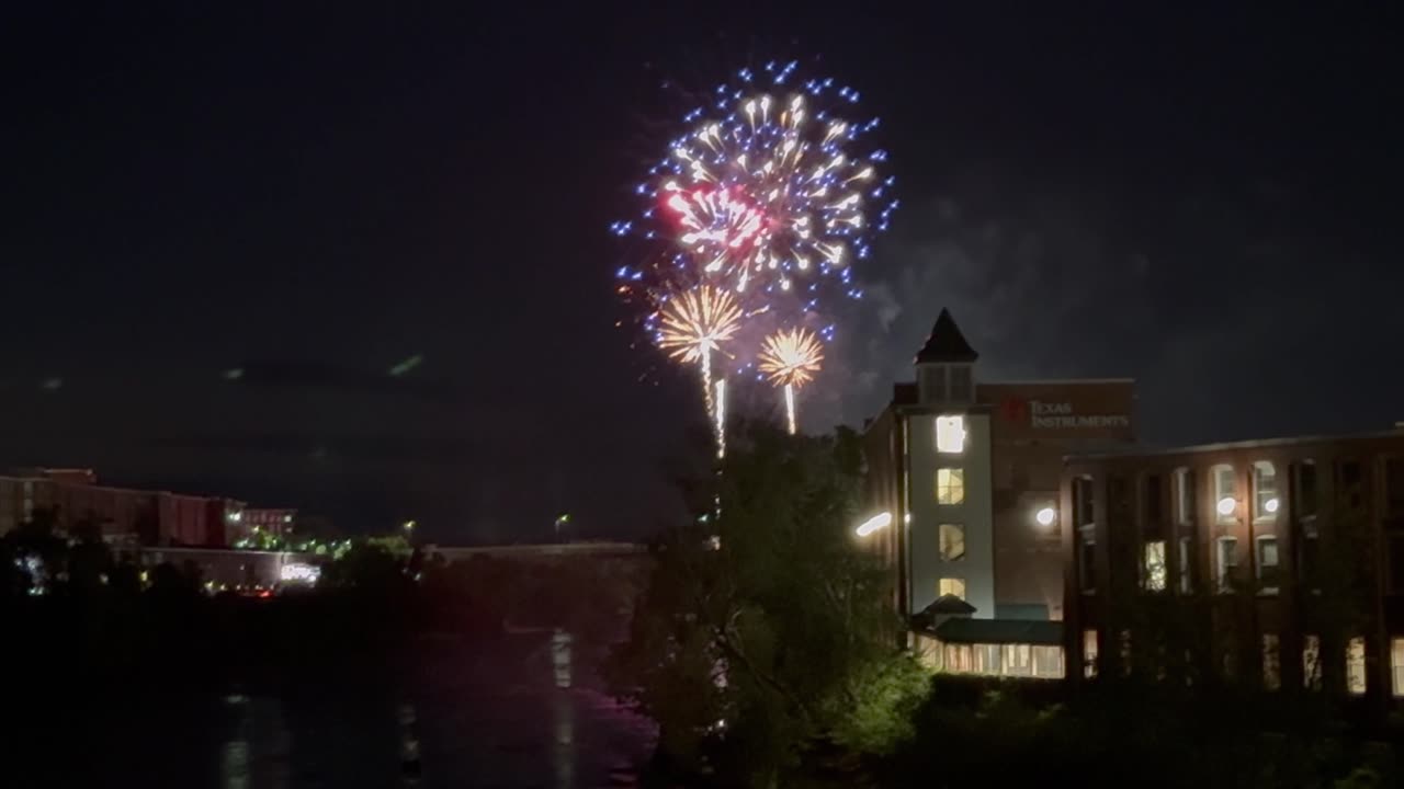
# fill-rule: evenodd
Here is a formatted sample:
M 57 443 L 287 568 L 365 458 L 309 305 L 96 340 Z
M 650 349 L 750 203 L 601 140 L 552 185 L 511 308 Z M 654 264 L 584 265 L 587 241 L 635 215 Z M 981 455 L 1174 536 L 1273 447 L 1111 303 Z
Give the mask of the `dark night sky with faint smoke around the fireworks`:
M 651 531 L 701 404 L 637 382 L 607 225 L 677 133 L 661 83 L 790 58 L 863 93 L 903 199 L 810 430 L 879 411 L 942 306 L 984 379 L 1137 378 L 1150 444 L 1404 420 L 1398 11 L 28 6 L 0 466 L 441 542 Z

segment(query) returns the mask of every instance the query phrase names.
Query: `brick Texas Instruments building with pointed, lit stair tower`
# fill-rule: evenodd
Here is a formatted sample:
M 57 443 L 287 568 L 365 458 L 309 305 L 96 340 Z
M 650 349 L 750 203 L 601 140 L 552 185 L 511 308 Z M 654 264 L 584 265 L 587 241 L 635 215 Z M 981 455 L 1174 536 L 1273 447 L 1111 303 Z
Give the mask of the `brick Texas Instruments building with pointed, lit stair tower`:
M 896 567 L 894 605 L 924 657 L 1061 675 L 1063 456 L 1133 441 L 1134 383 L 984 382 L 977 359 L 942 310 L 915 382 L 865 428 L 869 507 L 893 518 L 861 539 Z

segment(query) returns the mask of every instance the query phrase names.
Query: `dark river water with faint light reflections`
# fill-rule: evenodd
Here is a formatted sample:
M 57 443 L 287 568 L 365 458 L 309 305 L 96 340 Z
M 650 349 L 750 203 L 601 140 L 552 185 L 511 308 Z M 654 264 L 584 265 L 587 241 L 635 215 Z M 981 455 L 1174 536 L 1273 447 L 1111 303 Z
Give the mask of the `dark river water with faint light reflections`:
M 51 764 L 49 778 L 143 789 L 629 785 L 651 748 L 651 723 L 602 692 L 570 633 L 510 642 L 441 650 L 395 689 L 226 695 L 152 705 L 139 722 L 94 722 L 105 736 L 91 764 L 102 767 Z

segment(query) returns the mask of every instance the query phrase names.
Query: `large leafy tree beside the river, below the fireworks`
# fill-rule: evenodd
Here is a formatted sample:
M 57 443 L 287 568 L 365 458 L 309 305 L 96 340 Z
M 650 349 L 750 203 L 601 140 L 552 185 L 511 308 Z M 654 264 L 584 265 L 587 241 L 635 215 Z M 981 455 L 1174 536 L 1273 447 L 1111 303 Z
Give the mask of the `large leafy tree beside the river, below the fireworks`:
M 667 535 L 609 674 L 663 755 L 772 786 L 821 741 L 892 748 L 928 681 L 892 647 L 886 569 L 854 543 L 856 435 L 736 432 L 716 510 Z

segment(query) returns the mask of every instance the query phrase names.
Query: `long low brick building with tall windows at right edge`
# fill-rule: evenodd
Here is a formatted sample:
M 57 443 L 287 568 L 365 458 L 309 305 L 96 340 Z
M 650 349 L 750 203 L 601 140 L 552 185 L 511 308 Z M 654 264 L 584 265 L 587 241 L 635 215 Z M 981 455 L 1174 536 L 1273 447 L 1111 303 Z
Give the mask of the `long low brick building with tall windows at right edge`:
M 1073 456 L 1068 674 L 1404 696 L 1404 430 Z

